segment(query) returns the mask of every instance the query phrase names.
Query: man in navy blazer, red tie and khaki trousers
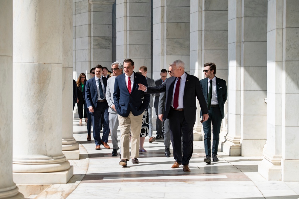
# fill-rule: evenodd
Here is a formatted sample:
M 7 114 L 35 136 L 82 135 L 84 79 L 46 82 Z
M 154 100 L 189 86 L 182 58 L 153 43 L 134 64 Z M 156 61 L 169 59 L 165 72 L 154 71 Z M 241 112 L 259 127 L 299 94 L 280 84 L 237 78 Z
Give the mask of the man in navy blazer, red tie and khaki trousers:
M 134 61 L 123 61 L 124 74 L 118 75 L 114 83 L 114 107 L 118 114 L 120 126 L 120 147 L 122 149 L 121 166 L 127 166 L 130 159 L 129 138 L 131 130 L 131 156 L 132 163 L 139 163 L 139 143 L 144 111 L 149 105 L 150 96 L 138 90 L 138 84 L 147 85 L 143 75 L 134 72 Z

